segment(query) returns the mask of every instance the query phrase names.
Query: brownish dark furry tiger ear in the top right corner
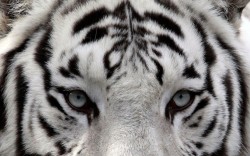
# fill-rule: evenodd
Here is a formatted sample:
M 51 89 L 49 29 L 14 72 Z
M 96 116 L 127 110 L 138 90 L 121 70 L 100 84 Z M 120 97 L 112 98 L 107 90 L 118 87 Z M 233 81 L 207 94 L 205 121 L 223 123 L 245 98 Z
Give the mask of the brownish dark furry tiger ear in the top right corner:
M 232 23 L 236 28 L 240 26 L 240 17 L 243 9 L 250 0 L 212 0 L 221 16 Z

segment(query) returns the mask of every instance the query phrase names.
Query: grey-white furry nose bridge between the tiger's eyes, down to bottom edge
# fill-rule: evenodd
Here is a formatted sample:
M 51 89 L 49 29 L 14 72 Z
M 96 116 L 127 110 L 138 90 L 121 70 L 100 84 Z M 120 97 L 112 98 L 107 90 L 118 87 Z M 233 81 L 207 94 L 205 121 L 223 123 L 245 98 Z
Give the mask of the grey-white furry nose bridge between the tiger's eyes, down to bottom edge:
M 110 116 L 106 135 L 107 156 L 162 155 L 158 97 L 155 91 L 139 88 L 130 93 L 116 92 L 110 99 Z

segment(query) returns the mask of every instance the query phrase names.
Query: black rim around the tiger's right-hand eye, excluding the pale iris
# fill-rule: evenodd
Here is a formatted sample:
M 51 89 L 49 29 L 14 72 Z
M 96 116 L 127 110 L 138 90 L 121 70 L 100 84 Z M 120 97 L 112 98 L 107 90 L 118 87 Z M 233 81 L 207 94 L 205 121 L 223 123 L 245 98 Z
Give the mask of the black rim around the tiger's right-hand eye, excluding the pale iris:
M 177 105 L 175 104 L 175 102 L 174 102 L 174 96 L 175 96 L 177 93 L 183 92 L 183 91 L 186 91 L 186 92 L 190 93 L 190 100 L 189 100 L 188 104 L 186 104 L 185 106 L 179 107 L 179 106 L 177 106 Z M 177 91 L 177 92 L 172 96 L 171 100 L 170 100 L 170 101 L 168 102 L 168 104 L 167 104 L 167 107 L 166 107 L 166 115 L 173 116 L 174 114 L 176 114 L 176 113 L 178 113 L 178 112 L 181 112 L 181 111 L 187 109 L 188 107 L 190 107 L 190 106 L 193 104 L 193 102 L 194 102 L 194 100 L 195 100 L 197 94 L 200 94 L 200 93 L 196 93 L 196 92 L 194 92 L 194 91 L 190 91 L 190 90 L 186 90 L 186 89 Z

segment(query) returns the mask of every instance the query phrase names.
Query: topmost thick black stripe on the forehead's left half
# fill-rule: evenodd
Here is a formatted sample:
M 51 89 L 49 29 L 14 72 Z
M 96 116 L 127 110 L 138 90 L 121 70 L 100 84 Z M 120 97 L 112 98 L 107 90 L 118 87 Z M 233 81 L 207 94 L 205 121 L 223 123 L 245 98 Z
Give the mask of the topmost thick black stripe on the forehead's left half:
M 106 8 L 99 8 L 84 15 L 79 21 L 75 23 L 73 28 L 73 35 L 83 30 L 84 28 L 98 23 L 108 15 L 109 11 Z

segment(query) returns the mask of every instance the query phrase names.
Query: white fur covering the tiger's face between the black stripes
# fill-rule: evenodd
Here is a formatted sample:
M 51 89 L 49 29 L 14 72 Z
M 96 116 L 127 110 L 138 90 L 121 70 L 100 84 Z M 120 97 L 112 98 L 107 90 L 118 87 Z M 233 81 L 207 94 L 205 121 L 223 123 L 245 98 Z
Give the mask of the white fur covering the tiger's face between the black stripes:
M 121 21 L 110 16 L 98 22 L 95 26 L 85 28 L 74 35 L 72 35 L 72 27 L 76 21 L 93 9 L 105 6 L 105 8 L 113 11 L 123 0 L 89 1 L 84 5 L 77 6 L 76 10 L 67 15 L 63 15 L 62 11 L 72 6 L 76 1 L 63 1 L 63 4 L 55 9 L 54 6 L 58 2 L 57 0 L 34 1 L 32 3 L 33 9 L 29 14 L 17 20 L 13 24 L 13 30 L 0 40 L 0 56 L 4 56 L 8 51 L 21 45 L 27 37 L 30 39 L 27 48 L 24 52 L 17 54 L 9 68 L 7 88 L 4 90 L 8 120 L 6 131 L 0 132 L 0 155 L 15 154 L 15 130 L 17 129 L 15 118 L 17 113 L 17 102 L 15 101 L 17 89 L 15 87 L 16 67 L 19 65 L 23 66 L 23 74 L 29 83 L 22 123 L 22 136 L 26 151 L 29 153 L 45 155 L 50 152 L 52 155 L 59 155 L 60 152 L 56 144 L 61 141 L 66 150 L 72 148 L 64 155 L 188 156 L 191 155 L 192 151 L 195 151 L 197 155 L 202 155 L 203 152 L 214 152 L 226 137 L 225 145 L 228 155 L 239 155 L 242 143 L 238 131 L 240 126 L 238 114 L 240 105 L 239 82 L 235 64 L 232 62 L 228 51 L 218 45 L 215 34 L 239 51 L 241 51 L 242 46 L 241 42 L 237 40 L 233 24 L 218 16 L 218 12 L 213 10 L 215 6 L 212 2 L 173 0 L 184 13 L 184 15 L 176 15 L 153 0 L 129 1 L 140 15 L 143 15 L 146 11 L 152 11 L 163 14 L 180 25 L 182 32 L 185 34 L 184 39 L 171 31 L 166 31 L 153 21 L 132 21 L 134 27 L 142 26 L 150 30 L 151 33 L 143 38 L 148 43 L 157 41 L 157 35 L 159 34 L 168 35 L 183 49 L 183 53 L 187 57 L 180 56 L 166 45 L 156 47 L 151 43 L 147 51 L 148 54 L 146 54 L 136 44 L 136 39 L 142 38 L 136 36 L 133 39 L 130 31 L 132 28 L 129 27 L 128 38 L 130 43 L 128 47 L 115 50 L 108 58 L 111 67 L 118 62 L 121 63 L 120 68 L 116 69 L 110 78 L 107 78 L 108 69 L 104 65 L 104 58 L 121 38 L 112 38 L 111 35 L 108 35 L 88 44 L 81 44 L 81 41 L 86 37 L 89 30 L 95 26 L 109 27 L 112 34 L 119 35 L 120 32 L 109 25 L 121 23 L 129 25 L 131 19 L 127 18 L 125 21 Z M 216 6 L 227 6 L 227 3 L 222 1 L 213 1 L 213 3 L 216 3 Z M 186 7 L 187 5 L 191 6 L 194 12 L 189 10 Z M 49 17 L 50 12 L 53 12 L 51 17 Z M 208 67 L 204 62 L 203 40 L 190 21 L 191 17 L 199 19 L 199 13 L 202 13 L 206 18 L 206 21 L 200 21 L 200 23 L 204 26 L 207 40 L 212 45 L 216 55 L 216 62 L 209 70 L 217 97 L 213 97 L 209 91 L 205 90 L 202 95 L 195 97 L 188 108 L 167 118 L 166 108 L 171 104 L 169 102 L 176 92 L 179 90 L 197 92 L 206 88 Z M 126 8 L 126 15 L 129 14 L 130 10 Z M 49 18 L 51 18 L 49 24 L 53 28 L 49 40 L 53 55 L 47 62 L 46 67 L 52 73 L 52 87 L 46 92 L 44 82 L 48 80 L 44 79 L 45 71 L 35 61 L 35 53 L 40 40 L 46 34 L 44 29 L 48 26 L 48 23 L 44 22 L 47 22 Z M 35 30 L 38 26 L 42 27 Z M 243 34 L 242 38 L 244 38 Z M 157 57 L 152 49 L 158 50 L 162 57 Z M 148 70 L 136 56 L 131 57 L 135 52 L 144 58 Z M 69 59 L 75 55 L 79 59 L 78 66 L 82 77 L 77 76 L 73 79 L 63 77 L 59 72 L 60 67 L 67 69 Z M 239 52 L 239 55 L 244 59 L 248 53 Z M 156 78 L 159 69 L 152 60 L 156 60 L 163 67 L 162 85 Z M 0 58 L 0 61 L 3 61 L 3 58 Z M 247 60 L 244 61 L 247 62 Z M 200 74 L 200 78 L 187 79 L 183 77 L 185 68 L 192 64 Z M 0 62 L 0 76 L 3 72 L 2 66 L 3 64 Z M 135 67 L 137 70 L 135 70 Z M 248 78 L 250 72 L 248 73 L 247 68 L 249 67 L 250 64 L 246 64 L 244 68 L 244 76 Z M 231 76 L 233 87 L 231 121 L 229 121 L 230 112 L 226 101 L 226 88 L 223 85 L 223 77 L 227 73 Z M 83 90 L 91 101 L 96 103 L 100 111 L 99 117 L 89 125 L 87 116 L 72 109 L 67 104 L 64 95 L 59 93 L 56 87 L 64 87 L 68 90 Z M 62 109 L 75 120 L 66 120 L 66 116 L 62 112 L 50 106 L 47 96 L 54 97 Z M 196 114 L 192 114 L 204 98 L 209 98 L 209 105 Z M 49 137 L 42 128 L 39 115 L 43 116 L 46 122 L 60 134 Z M 183 120 L 190 115 L 192 115 L 190 120 L 184 123 Z M 199 128 L 190 128 L 190 125 L 197 122 L 199 116 L 202 116 Z M 214 116 L 217 117 L 215 129 L 208 136 L 202 137 L 202 133 L 211 124 Z M 232 130 L 227 134 L 219 126 L 225 128 L 229 122 L 232 123 Z M 31 132 L 30 126 L 33 127 L 33 132 Z M 247 137 L 249 137 L 248 134 Z M 202 149 L 198 149 L 194 144 L 199 142 L 204 145 Z M 246 153 L 245 155 L 249 154 Z

